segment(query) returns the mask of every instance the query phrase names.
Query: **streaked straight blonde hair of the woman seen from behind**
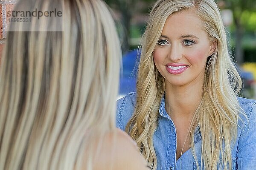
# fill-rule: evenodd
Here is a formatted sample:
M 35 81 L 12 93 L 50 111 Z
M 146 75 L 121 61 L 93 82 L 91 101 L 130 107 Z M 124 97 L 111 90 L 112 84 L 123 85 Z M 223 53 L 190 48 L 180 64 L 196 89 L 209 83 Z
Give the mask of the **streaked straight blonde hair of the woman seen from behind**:
M 1 170 L 92 170 L 95 141 L 116 127 L 121 51 L 108 8 L 101 0 L 20 0 L 15 9 L 47 11 L 54 4 L 63 12 L 63 31 L 23 31 L 25 23 L 11 23 L 18 31 L 7 35 Z M 57 23 L 32 17 L 30 26 Z

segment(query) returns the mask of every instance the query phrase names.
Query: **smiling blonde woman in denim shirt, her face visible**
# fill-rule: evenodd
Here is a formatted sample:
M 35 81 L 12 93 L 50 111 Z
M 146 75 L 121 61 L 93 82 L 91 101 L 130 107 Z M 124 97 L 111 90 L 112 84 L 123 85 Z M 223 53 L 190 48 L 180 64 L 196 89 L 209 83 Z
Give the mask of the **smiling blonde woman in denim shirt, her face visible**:
M 158 0 L 116 124 L 153 170 L 256 169 L 256 101 L 240 89 L 215 1 Z

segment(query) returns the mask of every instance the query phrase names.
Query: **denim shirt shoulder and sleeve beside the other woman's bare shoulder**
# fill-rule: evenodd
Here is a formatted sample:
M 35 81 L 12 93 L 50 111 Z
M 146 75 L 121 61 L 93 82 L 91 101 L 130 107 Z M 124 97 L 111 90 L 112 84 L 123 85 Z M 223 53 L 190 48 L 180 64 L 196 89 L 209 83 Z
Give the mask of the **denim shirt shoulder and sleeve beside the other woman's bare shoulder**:
M 134 113 L 136 104 L 136 93 L 129 93 L 117 100 L 116 108 L 116 127 L 125 130 L 128 121 Z

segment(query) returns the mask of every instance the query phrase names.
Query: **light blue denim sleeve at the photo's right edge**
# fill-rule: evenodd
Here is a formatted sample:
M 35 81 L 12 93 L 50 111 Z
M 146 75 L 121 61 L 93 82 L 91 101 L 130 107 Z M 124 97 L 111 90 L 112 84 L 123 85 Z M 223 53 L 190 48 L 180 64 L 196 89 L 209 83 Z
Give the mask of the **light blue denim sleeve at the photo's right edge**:
M 256 168 L 256 101 L 242 103 L 247 120 L 244 122 L 237 147 L 238 170 L 254 170 Z

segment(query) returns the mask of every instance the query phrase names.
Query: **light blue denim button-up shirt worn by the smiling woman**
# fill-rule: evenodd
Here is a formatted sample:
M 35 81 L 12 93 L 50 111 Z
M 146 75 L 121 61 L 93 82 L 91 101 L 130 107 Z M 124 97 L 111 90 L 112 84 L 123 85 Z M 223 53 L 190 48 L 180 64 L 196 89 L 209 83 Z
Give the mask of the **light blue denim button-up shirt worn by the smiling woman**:
M 256 101 L 238 98 L 248 119 L 238 122 L 238 137 L 232 147 L 232 170 L 256 170 Z M 136 93 L 130 93 L 117 101 L 116 126 L 125 130 L 136 105 Z M 157 155 L 157 170 L 196 170 L 191 150 L 176 161 L 177 138 L 175 125 L 166 113 L 164 98 L 159 109 L 159 122 L 153 136 Z M 195 152 L 201 170 L 201 133 L 195 132 Z M 204 167 L 203 167 L 204 169 Z M 221 168 L 222 169 L 222 168 Z

